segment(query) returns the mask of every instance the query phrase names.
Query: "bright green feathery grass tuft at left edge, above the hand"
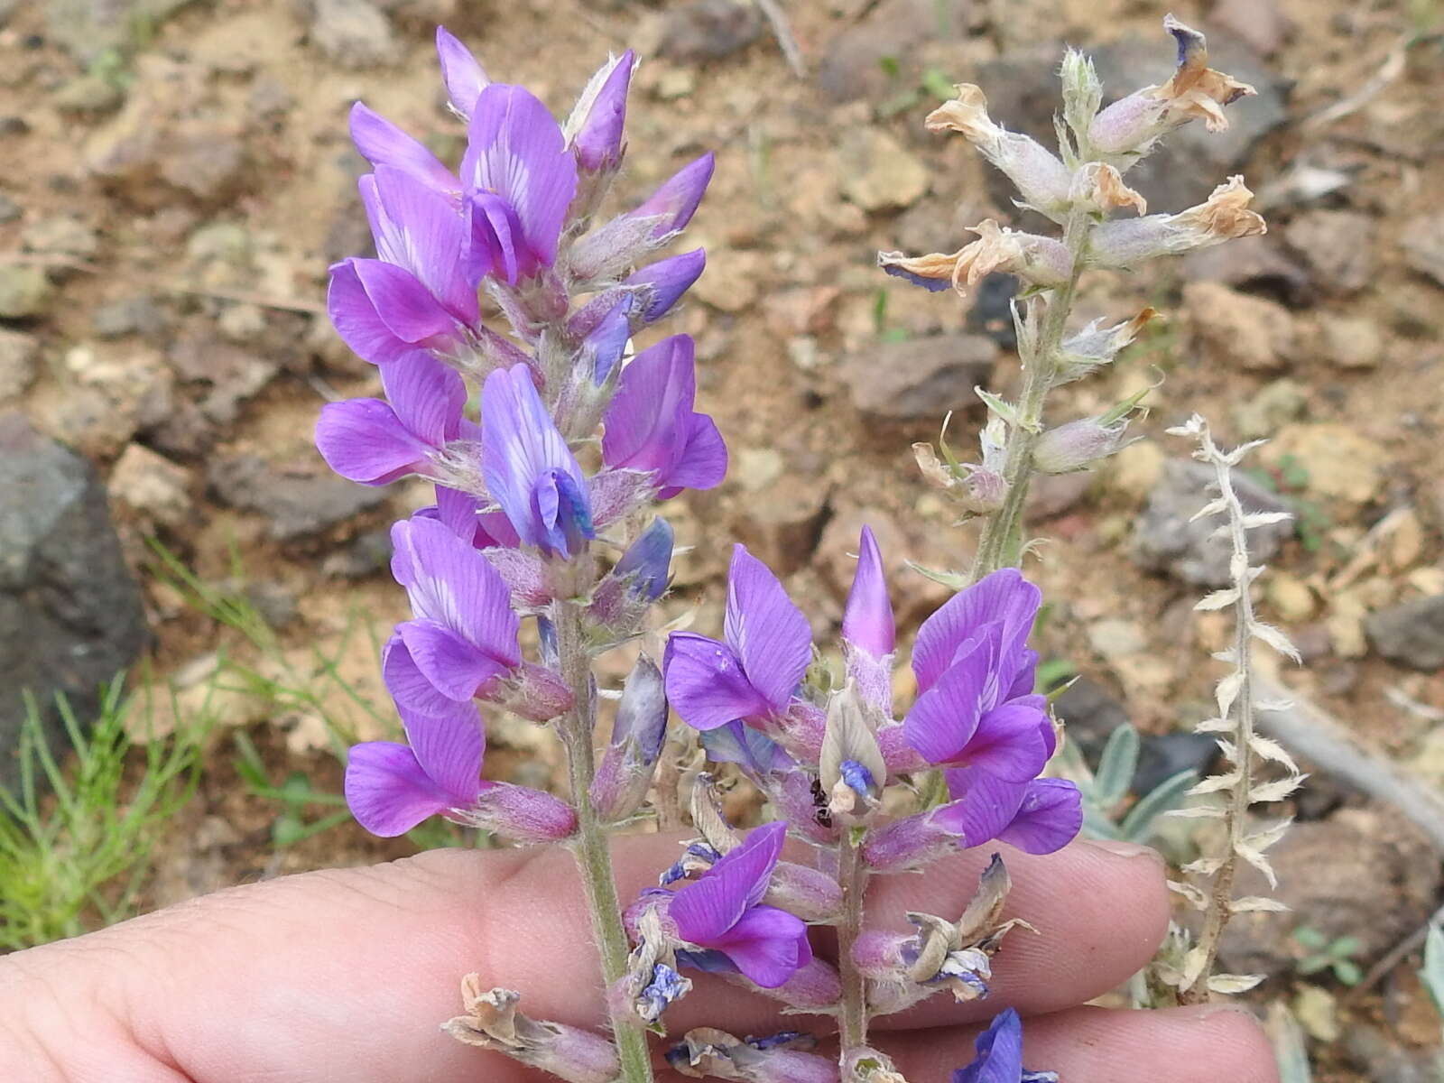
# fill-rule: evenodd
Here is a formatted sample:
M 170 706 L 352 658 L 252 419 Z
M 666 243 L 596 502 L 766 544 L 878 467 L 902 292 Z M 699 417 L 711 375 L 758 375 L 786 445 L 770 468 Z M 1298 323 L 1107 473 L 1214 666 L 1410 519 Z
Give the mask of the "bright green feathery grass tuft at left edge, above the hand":
M 195 793 L 202 716 L 137 747 L 144 696 L 104 690 L 94 725 L 84 726 L 64 696 L 56 706 L 74 754 L 52 748 L 39 705 L 26 696 L 19 784 L 0 788 L 0 947 L 19 950 L 136 911 L 149 856 L 166 825 Z

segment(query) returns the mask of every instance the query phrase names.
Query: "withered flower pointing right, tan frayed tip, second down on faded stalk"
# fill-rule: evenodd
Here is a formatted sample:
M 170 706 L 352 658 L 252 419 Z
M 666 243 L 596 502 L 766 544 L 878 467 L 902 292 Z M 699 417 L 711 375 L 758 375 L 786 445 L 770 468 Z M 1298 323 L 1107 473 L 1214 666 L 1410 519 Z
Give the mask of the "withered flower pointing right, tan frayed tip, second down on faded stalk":
M 1102 222 L 1093 230 L 1089 263 L 1129 269 L 1158 256 L 1175 256 L 1268 232 L 1264 218 L 1248 209 L 1252 198 L 1243 178 L 1230 176 L 1204 202 L 1187 211 Z

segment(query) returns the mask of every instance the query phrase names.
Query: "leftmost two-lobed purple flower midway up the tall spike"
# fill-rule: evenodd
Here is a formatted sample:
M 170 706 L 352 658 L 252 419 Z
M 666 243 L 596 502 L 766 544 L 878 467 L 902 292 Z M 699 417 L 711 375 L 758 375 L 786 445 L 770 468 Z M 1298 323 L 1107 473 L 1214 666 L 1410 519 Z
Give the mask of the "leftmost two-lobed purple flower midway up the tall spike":
M 407 474 L 433 475 L 433 461 L 466 425 L 466 386 L 426 354 L 381 365 L 390 401 L 326 403 L 316 420 L 316 448 L 342 478 L 386 485 Z

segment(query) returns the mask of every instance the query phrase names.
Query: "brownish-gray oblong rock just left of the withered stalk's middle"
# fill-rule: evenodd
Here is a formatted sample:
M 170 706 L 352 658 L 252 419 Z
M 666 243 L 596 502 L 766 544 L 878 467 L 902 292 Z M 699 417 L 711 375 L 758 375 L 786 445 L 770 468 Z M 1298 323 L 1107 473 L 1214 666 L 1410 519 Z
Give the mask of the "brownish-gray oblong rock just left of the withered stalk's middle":
M 998 347 L 982 335 L 931 335 L 879 342 L 842 361 L 852 401 L 877 417 L 940 420 L 975 401 L 992 377 Z

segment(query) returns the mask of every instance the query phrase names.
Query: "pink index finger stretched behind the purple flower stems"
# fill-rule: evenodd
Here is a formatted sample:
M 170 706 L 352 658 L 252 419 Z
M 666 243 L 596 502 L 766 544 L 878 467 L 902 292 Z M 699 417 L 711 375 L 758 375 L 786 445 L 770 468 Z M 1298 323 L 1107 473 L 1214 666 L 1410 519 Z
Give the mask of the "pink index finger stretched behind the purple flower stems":
M 656 882 L 676 852 L 674 839 L 619 840 L 624 898 Z M 879 881 L 882 905 L 874 908 L 950 907 L 956 914 L 985 859 L 962 855 L 926 877 Z M 1121 953 L 1113 944 L 1157 941 L 1158 921 L 1132 901 L 1157 877 L 1152 862 L 1073 846 L 1048 859 L 1017 855 L 1014 865 L 1015 910 L 1047 930 L 1050 947 L 1019 950 L 1017 963 L 999 967 L 1017 973 L 999 986 L 993 1005 L 1005 996 L 1028 1009 L 1082 999 L 1141 962 L 1132 947 Z M 1082 894 L 1102 898 L 1080 904 L 1079 885 Z M 466 970 L 521 989 L 526 1011 L 537 1018 L 576 1025 L 602 1019 L 579 879 L 560 849 L 439 851 L 283 878 L 7 962 L 12 973 L 46 970 L 42 986 L 84 982 L 144 1048 L 198 1080 L 244 1073 L 299 1080 L 303 1076 L 287 1073 L 318 1057 L 355 1080 L 397 1080 L 410 1071 L 426 1080 L 474 1079 L 478 1057 L 490 1057 L 436 1031 L 456 1014 L 458 979 Z M 1058 988 L 1030 999 L 1025 989 L 1034 982 Z M 774 1002 L 706 976 L 676 1012 L 669 1018 L 676 1032 L 695 1025 L 765 1032 L 781 1025 Z M 498 1063 L 491 1077 L 504 1079 L 507 1070 Z

